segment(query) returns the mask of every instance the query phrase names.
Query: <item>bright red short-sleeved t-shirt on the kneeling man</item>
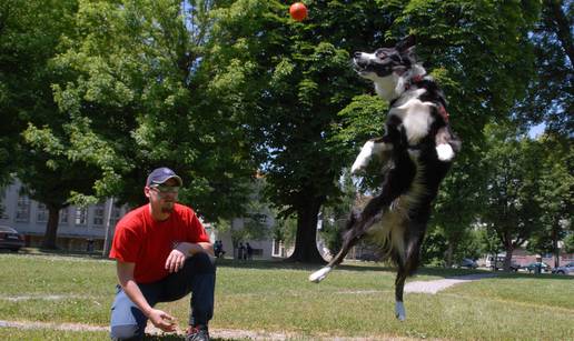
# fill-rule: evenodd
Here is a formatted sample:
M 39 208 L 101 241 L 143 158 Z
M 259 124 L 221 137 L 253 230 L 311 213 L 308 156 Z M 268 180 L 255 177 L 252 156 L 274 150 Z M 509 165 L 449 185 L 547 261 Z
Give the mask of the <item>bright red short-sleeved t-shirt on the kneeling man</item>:
M 166 260 L 177 242 L 209 242 L 194 210 L 176 203 L 167 220 L 156 221 L 146 204 L 118 222 L 110 258 L 136 263 L 137 283 L 155 282 L 169 274 Z

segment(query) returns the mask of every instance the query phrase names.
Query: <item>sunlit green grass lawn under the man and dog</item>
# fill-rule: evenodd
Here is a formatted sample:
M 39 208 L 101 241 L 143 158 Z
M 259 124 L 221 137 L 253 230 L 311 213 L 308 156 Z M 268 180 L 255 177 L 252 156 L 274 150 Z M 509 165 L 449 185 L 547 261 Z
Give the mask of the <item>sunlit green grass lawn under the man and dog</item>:
M 116 283 L 113 262 L 86 255 L 0 253 L 0 320 L 108 324 Z M 263 261 L 220 262 L 216 314 L 210 327 L 284 333 L 296 339 L 574 339 L 573 277 L 501 273 L 434 295 L 406 293 L 407 320 L 399 322 L 394 317 L 392 269 L 373 263 L 349 264 L 314 284 L 307 277 L 317 268 Z M 410 281 L 467 273 L 471 272 L 422 269 Z M 160 307 L 184 328 L 189 298 Z M 106 338 L 106 331 L 0 328 L 0 340 Z M 161 340 L 168 339 L 176 340 Z

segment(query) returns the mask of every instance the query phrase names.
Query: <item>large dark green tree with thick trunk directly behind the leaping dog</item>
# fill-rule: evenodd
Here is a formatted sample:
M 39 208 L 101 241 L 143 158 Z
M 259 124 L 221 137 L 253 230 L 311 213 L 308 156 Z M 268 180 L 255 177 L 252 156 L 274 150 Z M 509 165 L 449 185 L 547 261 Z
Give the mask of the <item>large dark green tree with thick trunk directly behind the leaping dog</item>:
M 536 1 L 316 1 L 309 19 L 299 23 L 279 1 L 225 4 L 215 13 L 205 62 L 214 79 L 240 83 L 236 94 L 267 174 L 268 195 L 285 215 L 296 213 L 291 260 L 304 262 L 321 261 L 317 214 L 340 195 L 337 179 L 364 142 L 339 143 L 340 129 L 355 122 L 338 113 L 377 101 L 357 97 L 366 89 L 348 67 L 350 53 L 414 33 L 422 59 L 445 86 L 455 129 L 473 146 L 487 118 L 508 112 L 524 92 L 533 59 L 527 31 L 538 10 Z M 516 69 L 526 71 L 509 71 Z M 359 117 L 373 118 L 372 108 Z

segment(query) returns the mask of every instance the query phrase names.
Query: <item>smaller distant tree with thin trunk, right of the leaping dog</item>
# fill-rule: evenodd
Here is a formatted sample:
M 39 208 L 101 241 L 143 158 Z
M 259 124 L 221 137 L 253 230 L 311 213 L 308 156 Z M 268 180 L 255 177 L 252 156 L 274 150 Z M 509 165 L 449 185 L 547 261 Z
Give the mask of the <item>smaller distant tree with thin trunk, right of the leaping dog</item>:
M 482 191 L 479 221 L 495 233 L 506 251 L 504 269 L 508 270 L 513 251 L 541 229 L 541 209 L 535 198 L 543 172 L 543 150 L 517 134 L 512 124 L 488 126 L 485 134 L 483 169 L 487 182 Z

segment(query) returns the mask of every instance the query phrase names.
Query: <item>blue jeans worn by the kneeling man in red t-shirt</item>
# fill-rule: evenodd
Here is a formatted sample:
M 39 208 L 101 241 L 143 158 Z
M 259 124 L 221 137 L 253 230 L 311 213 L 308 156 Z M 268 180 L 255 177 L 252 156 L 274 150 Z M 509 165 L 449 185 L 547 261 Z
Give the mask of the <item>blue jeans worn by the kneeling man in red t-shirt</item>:
M 189 325 L 207 325 L 214 315 L 215 264 L 206 253 L 188 258 L 184 268 L 162 280 L 138 284 L 148 303 L 176 301 L 192 292 Z M 120 285 L 111 305 L 110 337 L 112 339 L 144 338 L 147 318 L 128 298 Z

